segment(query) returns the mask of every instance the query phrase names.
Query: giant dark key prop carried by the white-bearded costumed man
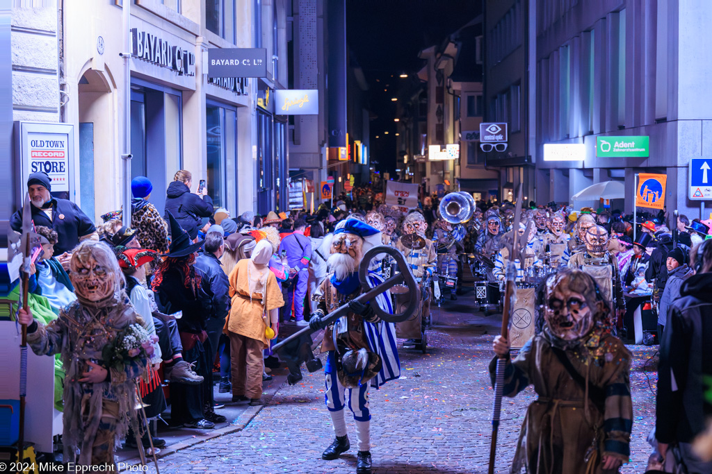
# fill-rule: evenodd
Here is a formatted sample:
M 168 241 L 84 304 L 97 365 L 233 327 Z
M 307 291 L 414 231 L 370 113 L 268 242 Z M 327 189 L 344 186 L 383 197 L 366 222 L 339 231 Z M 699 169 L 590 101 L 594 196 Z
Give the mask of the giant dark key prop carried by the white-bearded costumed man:
M 389 254 L 393 259 L 396 261 L 396 264 L 398 265 L 399 273 L 394 274 L 391 276 L 389 279 L 384 281 L 382 284 L 379 284 L 377 286 L 374 286 L 371 288 L 370 284 L 368 283 L 368 266 L 371 262 L 371 259 L 377 255 L 381 254 Z M 386 321 L 387 323 L 400 323 L 401 321 L 407 320 L 410 316 L 413 315 L 415 311 L 417 311 L 417 307 L 420 301 L 420 298 L 418 298 L 418 284 L 415 281 L 415 278 L 412 274 L 412 271 L 410 270 L 409 266 L 405 262 L 405 259 L 403 257 L 403 254 L 399 252 L 397 249 L 394 249 L 393 247 L 387 247 L 385 245 L 379 245 L 377 247 L 373 247 L 370 249 L 366 254 L 363 256 L 363 259 L 361 261 L 361 264 L 358 269 L 358 278 L 359 281 L 361 282 L 361 287 L 363 289 L 363 293 L 358 296 L 358 298 L 355 298 L 352 301 L 359 301 L 360 303 L 369 303 L 371 307 L 373 308 L 373 311 L 381 318 L 383 321 Z M 409 298 L 409 303 L 408 306 L 404 309 L 402 313 L 396 313 L 396 314 L 390 314 L 384 311 L 380 306 L 378 306 L 378 302 L 376 301 L 376 296 L 378 296 L 381 293 L 385 293 L 389 289 L 391 289 L 393 286 L 400 285 L 400 284 L 405 284 L 408 287 L 408 294 L 410 296 Z M 336 321 L 338 318 L 341 316 L 346 316 L 346 314 L 349 311 L 349 305 L 346 303 L 343 306 L 340 306 L 337 308 L 335 311 L 329 313 L 328 315 L 324 316 L 322 318 L 322 321 L 324 325 L 328 325 Z M 272 348 L 272 350 L 280 350 L 283 348 L 285 345 L 290 343 L 291 341 L 298 339 L 304 335 L 311 335 L 315 333 L 316 331 L 313 330 L 310 327 L 305 327 L 302 330 L 298 331 L 297 333 L 294 333 L 293 335 L 290 335 L 288 338 L 285 340 L 281 341 L 278 344 L 275 344 Z

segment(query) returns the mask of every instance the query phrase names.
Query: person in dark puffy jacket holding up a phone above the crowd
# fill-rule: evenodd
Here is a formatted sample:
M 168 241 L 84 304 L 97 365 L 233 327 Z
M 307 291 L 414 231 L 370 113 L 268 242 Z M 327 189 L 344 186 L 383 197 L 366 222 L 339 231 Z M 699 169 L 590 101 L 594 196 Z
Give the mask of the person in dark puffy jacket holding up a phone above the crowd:
M 193 184 L 193 175 L 190 171 L 180 170 L 173 179 L 174 181 L 166 190 L 164 218 L 168 220 L 168 212 L 170 212 L 188 232 L 190 238 L 195 240 L 201 227 L 201 217 L 213 215 L 213 200 L 208 195 L 207 186 L 201 190 L 201 193 L 190 192 Z

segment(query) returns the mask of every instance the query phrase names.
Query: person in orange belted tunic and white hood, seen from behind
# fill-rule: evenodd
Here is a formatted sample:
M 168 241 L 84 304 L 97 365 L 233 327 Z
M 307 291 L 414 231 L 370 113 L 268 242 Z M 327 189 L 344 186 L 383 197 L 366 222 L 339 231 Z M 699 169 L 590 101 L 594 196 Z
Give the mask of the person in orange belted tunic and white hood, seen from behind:
M 229 276 L 232 302 L 223 332 L 230 338 L 232 399 L 249 399 L 252 406 L 263 404 L 262 351 L 279 333 L 278 308 L 284 305 L 269 268 L 273 252 L 271 242 L 261 239 L 251 257 L 237 262 Z

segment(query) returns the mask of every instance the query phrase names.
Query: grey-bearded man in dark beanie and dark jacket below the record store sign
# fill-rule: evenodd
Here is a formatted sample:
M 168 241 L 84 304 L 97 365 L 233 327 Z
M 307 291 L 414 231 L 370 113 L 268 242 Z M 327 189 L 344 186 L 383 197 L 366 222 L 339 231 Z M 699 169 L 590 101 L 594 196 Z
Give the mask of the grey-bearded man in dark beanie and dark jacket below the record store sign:
M 51 178 L 47 173 L 31 173 L 27 180 L 27 190 L 35 225 L 49 227 L 58 234 L 54 251 L 59 262 L 68 262 L 72 249 L 82 240 L 99 239 L 92 220 L 78 205 L 67 199 L 52 197 Z M 16 232 L 21 232 L 22 208 L 10 218 L 10 226 Z

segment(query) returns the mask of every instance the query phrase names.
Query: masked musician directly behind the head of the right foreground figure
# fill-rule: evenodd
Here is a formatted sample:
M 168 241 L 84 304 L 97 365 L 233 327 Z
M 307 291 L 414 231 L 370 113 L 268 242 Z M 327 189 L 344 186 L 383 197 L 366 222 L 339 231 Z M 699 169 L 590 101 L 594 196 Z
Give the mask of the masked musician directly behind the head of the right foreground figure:
M 586 214 L 581 217 L 584 216 Z M 597 279 L 597 283 L 604 293 L 608 289 L 612 299 L 611 302 L 616 308 L 614 316 L 621 318 L 625 312 L 623 285 L 619 276 L 618 260 L 608 252 L 608 239 L 609 235 L 605 227 L 600 225 L 589 227 L 584 237 L 585 248 L 573 254 L 568 265 L 569 268 L 581 269 L 587 273 L 592 271 L 591 266 L 609 267 L 610 286 L 607 286 L 607 281 L 603 282 L 600 279 Z M 591 274 L 591 276 L 597 278 L 600 274 Z

